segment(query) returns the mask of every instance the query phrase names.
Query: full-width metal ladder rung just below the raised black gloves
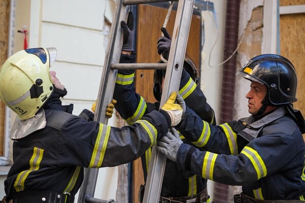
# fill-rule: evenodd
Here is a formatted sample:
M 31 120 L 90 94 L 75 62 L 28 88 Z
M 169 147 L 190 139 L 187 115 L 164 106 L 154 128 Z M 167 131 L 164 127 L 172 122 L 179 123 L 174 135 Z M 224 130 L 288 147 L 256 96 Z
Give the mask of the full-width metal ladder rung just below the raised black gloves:
M 113 63 L 111 69 L 117 70 L 166 70 L 167 63 Z

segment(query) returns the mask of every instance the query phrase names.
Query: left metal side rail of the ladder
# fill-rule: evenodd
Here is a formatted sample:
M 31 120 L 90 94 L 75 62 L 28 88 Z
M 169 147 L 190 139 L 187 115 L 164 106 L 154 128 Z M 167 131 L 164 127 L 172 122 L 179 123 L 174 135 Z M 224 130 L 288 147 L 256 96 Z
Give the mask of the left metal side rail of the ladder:
M 107 124 L 106 117 L 107 105 L 111 102 L 116 80 L 117 70 L 110 68 L 112 63 L 118 63 L 121 46 L 123 44 L 123 35 L 120 29 L 120 21 L 127 20 L 130 6 L 123 6 L 123 0 L 116 1 L 116 12 L 110 28 L 110 39 L 108 42 L 105 61 L 102 71 L 101 83 L 97 98 L 94 120 Z M 86 197 L 93 197 L 96 188 L 99 168 L 84 168 L 84 180 L 79 190 L 78 203 L 85 201 Z

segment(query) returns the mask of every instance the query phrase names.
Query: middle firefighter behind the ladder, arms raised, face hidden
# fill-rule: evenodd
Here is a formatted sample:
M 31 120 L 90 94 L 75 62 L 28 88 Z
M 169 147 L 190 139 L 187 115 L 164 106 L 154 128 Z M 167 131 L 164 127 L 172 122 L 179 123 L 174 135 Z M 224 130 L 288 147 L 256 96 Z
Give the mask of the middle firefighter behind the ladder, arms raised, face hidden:
M 131 15 L 130 15 L 131 16 Z M 129 18 L 127 26 L 123 25 L 124 36 L 133 36 L 133 19 Z M 168 31 L 161 28 L 164 37 L 158 40 L 158 53 L 162 54 L 165 59 L 168 59 L 171 39 Z M 136 53 L 133 50 L 133 37 L 129 38 L 130 46 L 123 48 L 126 52 L 120 57 L 121 63 L 134 62 Z M 144 98 L 136 93 L 134 86 L 134 70 L 118 70 L 113 98 L 117 101 L 115 109 L 120 116 L 129 124 L 141 119 L 144 115 L 160 108 L 160 100 L 162 93 L 162 82 L 164 80 L 165 71 L 156 70 L 154 72 L 154 96 L 157 99 L 156 103 L 146 103 Z M 186 104 L 194 109 L 200 117 L 212 124 L 215 124 L 214 111 L 206 103 L 206 98 L 199 87 L 199 79 L 197 77 L 197 68 L 190 58 L 184 60 L 184 69 L 179 85 L 179 94 L 185 99 Z M 188 142 L 184 139 L 184 142 Z M 189 142 L 188 142 L 189 143 Z M 190 143 L 191 144 L 191 143 Z M 150 161 L 151 148 L 141 156 L 142 168 L 144 174 L 144 182 L 146 182 L 148 163 Z M 144 186 L 142 185 L 139 191 L 139 200 L 142 202 L 144 194 Z M 208 201 L 206 180 L 200 176 L 195 176 L 193 173 L 179 170 L 176 163 L 167 160 L 164 178 L 161 188 L 160 202 L 167 198 L 172 198 L 178 202 L 205 202 Z

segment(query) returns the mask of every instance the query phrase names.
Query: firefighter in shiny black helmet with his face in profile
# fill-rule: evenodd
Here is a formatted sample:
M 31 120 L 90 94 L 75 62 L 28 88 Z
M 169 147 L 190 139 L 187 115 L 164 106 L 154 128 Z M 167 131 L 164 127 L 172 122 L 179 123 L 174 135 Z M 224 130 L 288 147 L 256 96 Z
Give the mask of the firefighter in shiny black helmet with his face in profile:
M 263 54 L 236 75 L 251 81 L 246 95 L 250 117 L 212 126 L 187 108 L 178 130 L 197 148 L 183 144 L 172 130 L 157 149 L 181 170 L 241 185 L 234 202 L 304 202 L 305 123 L 292 105 L 297 100 L 293 64 L 283 56 Z

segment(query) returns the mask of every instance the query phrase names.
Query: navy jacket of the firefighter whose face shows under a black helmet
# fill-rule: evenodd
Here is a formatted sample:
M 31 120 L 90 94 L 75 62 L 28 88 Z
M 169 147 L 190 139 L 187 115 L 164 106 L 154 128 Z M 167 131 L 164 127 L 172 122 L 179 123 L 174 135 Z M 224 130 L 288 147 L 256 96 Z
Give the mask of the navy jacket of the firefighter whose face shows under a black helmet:
M 241 185 L 256 199 L 304 200 L 304 140 L 285 106 L 258 120 L 250 116 L 217 126 L 187 109 L 178 130 L 197 146 L 181 145 L 181 170 Z

